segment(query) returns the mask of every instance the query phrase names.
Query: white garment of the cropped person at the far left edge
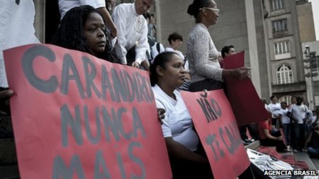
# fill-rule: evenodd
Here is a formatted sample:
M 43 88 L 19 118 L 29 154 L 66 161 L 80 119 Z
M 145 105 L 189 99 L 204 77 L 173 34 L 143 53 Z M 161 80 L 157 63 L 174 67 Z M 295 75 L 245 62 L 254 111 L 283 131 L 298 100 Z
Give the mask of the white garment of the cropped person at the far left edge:
M 0 87 L 8 87 L 3 50 L 40 43 L 33 27 L 35 9 L 32 0 L 1 1 L 0 6 Z

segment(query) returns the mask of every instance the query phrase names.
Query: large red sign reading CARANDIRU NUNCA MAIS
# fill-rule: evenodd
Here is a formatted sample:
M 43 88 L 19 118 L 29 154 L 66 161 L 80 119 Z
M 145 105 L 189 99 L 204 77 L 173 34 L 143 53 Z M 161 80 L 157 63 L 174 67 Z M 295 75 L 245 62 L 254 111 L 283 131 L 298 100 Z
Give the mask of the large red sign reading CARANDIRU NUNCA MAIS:
M 149 74 L 54 45 L 4 52 L 21 178 L 171 178 Z

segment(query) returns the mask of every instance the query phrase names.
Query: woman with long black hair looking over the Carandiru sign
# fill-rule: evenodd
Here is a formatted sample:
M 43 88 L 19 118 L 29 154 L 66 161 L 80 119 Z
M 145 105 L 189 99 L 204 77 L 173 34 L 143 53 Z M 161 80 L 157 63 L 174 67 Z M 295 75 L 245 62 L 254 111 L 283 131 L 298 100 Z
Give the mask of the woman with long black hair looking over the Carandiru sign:
M 75 49 L 111 61 L 105 53 L 105 24 L 99 12 L 91 6 L 67 11 L 53 36 L 52 44 Z

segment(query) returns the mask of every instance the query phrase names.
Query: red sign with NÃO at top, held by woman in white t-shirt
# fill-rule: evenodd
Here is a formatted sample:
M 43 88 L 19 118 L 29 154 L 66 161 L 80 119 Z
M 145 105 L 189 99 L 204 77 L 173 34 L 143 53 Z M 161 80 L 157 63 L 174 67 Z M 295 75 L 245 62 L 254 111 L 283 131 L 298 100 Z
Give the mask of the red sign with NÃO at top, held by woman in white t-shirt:
M 234 179 L 250 164 L 223 90 L 181 92 L 215 179 Z

